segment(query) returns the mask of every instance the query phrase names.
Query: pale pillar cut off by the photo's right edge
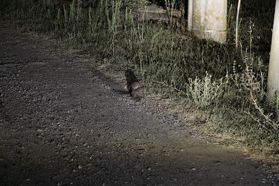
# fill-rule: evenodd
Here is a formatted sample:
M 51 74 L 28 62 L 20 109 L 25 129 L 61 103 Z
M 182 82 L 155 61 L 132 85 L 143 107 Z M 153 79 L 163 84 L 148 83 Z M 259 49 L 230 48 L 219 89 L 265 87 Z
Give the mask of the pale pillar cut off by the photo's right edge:
M 279 98 L 279 0 L 276 0 L 276 8 L 272 29 L 267 91 L 271 98 L 276 98 L 276 95 Z

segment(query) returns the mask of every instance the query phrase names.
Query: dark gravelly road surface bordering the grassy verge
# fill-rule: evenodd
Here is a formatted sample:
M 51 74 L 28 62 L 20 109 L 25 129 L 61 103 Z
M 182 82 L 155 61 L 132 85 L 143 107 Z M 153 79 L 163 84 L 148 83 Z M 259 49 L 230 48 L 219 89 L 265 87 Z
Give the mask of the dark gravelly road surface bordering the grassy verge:
M 1 185 L 276 185 L 98 71 L 0 29 Z M 113 81 L 113 80 L 112 80 Z

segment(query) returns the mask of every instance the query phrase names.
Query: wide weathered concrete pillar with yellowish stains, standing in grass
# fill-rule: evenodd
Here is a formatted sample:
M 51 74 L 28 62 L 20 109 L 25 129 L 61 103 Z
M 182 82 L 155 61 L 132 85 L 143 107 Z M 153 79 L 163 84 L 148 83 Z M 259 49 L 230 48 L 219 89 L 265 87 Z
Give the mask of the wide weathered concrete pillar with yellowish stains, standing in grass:
M 193 6 L 190 5 L 193 3 Z M 192 8 L 192 10 L 191 10 Z M 227 0 L 189 1 L 188 29 L 199 38 L 225 43 L 227 40 Z

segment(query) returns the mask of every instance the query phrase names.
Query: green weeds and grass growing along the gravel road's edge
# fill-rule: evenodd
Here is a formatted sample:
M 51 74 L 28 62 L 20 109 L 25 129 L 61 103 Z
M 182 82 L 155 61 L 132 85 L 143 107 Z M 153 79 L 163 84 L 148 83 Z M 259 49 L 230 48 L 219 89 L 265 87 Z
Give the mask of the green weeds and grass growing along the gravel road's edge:
M 276 158 L 279 100 L 265 93 L 273 10 L 243 5 L 236 50 L 234 1 L 229 1 L 226 45 L 200 40 L 183 24 L 140 19 L 135 10 L 147 1 L 53 2 L 2 0 L 2 21 L 110 59 L 114 70 L 133 68 L 147 91 L 190 105 L 188 112 L 198 109 L 207 121 L 200 130 L 229 134 L 231 142 Z M 178 3 L 170 2 L 165 4 Z

